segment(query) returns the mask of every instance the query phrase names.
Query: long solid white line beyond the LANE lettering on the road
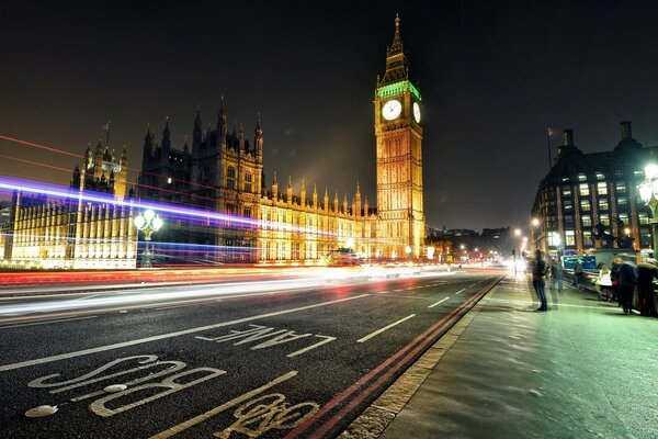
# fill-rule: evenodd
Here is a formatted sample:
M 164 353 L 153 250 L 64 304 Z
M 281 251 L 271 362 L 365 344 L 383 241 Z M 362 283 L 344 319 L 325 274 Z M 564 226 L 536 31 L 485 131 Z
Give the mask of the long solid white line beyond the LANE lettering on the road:
M 355 299 L 363 299 L 363 297 L 367 297 L 370 295 L 371 294 L 361 294 L 361 295 L 355 295 L 353 297 L 338 299 L 336 301 L 316 303 L 315 305 L 299 306 L 297 308 L 277 311 L 277 312 L 273 312 L 273 313 L 265 313 L 265 314 L 260 314 L 260 315 L 256 315 L 256 316 L 251 316 L 251 317 L 238 318 L 236 320 L 217 323 L 217 324 L 207 325 L 207 326 L 200 326 L 196 328 L 183 329 L 183 330 L 179 330 L 175 333 L 161 334 L 159 336 L 139 338 L 136 340 L 124 341 L 124 342 L 106 345 L 106 346 L 99 346 L 98 348 L 83 349 L 83 350 L 78 350 L 75 352 L 60 353 L 60 354 L 52 356 L 52 357 L 44 357 L 44 358 L 34 359 L 34 360 L 20 361 L 18 363 L 3 364 L 3 365 L 0 365 L 0 372 L 14 370 L 14 369 L 29 368 L 31 365 L 36 365 L 36 364 L 50 363 L 54 361 L 67 360 L 69 358 L 88 356 L 90 353 L 104 352 L 104 351 L 113 350 L 113 349 L 121 349 L 121 348 L 125 348 L 127 346 L 143 345 L 143 344 L 147 344 L 150 341 L 162 340 L 166 338 L 185 336 L 189 334 L 201 333 L 201 331 L 208 330 L 208 329 L 215 329 L 215 328 L 220 328 L 224 326 L 237 325 L 237 324 L 246 323 L 246 322 L 253 322 L 253 320 L 258 320 L 261 318 L 274 317 L 274 316 L 279 316 L 279 315 L 283 315 L 283 314 L 297 313 L 300 311 L 313 309 L 313 308 L 317 308 L 320 306 L 327 306 L 327 305 L 333 305 L 333 304 L 342 303 L 342 302 L 347 302 L 347 301 L 353 301 Z

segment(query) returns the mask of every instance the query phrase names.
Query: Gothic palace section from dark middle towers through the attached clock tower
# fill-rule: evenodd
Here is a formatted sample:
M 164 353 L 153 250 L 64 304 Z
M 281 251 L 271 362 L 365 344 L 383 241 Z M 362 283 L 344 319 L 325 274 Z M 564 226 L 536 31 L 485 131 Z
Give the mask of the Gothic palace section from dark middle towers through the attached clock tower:
M 399 105 L 397 114 L 389 110 L 394 102 Z M 304 181 L 294 191 L 288 179 L 285 191 L 280 190 L 275 175 L 268 189 L 260 117 L 250 144 L 241 126 L 228 131 L 224 100 L 215 126 L 204 130 L 197 111 L 191 148 L 186 142 L 180 149 L 171 146 L 169 122 L 160 144 L 148 130 L 138 194 L 259 221 L 258 227 L 230 222 L 200 227 L 179 219 L 159 233 L 158 240 L 213 245 L 216 260 L 313 262 L 339 247 L 368 258 L 420 257 L 424 240 L 420 115 L 421 97 L 408 79 L 396 18 L 386 74 L 375 91 L 378 211 L 370 209 L 367 200 L 362 202 L 359 184 L 351 203 L 347 194 L 340 203 L 338 193 L 330 202 L 327 190 L 319 199 L 315 184 L 307 196 Z

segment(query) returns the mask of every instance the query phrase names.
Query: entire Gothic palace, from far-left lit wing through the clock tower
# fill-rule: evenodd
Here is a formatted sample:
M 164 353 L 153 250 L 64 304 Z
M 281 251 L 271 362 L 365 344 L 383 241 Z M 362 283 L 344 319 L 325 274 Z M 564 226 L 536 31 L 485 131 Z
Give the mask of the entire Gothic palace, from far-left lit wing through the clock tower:
M 359 183 L 351 203 L 347 194 L 322 195 L 288 178 L 270 185 L 263 171 L 260 117 L 250 143 L 242 128 L 227 126 L 222 102 L 216 125 L 203 127 L 197 111 L 191 146 L 171 145 L 169 122 L 160 143 L 147 131 L 137 185 L 127 193 L 127 154 L 117 159 L 109 146 L 88 148 L 82 169 L 76 167 L 71 190 L 93 190 L 115 199 L 154 200 L 171 205 L 252 218 L 202 222 L 168 215 L 154 234 L 156 251 L 178 252 L 171 261 L 305 261 L 351 247 L 368 258 L 424 256 L 422 194 L 421 95 L 409 80 L 409 65 L 395 20 L 386 70 L 374 98 L 377 207 L 362 199 Z M 49 267 L 133 268 L 137 260 L 134 207 L 125 204 L 52 202 L 14 194 L 4 258 L 47 261 Z M 182 250 L 181 250 L 182 248 Z M 162 261 L 167 263 L 167 261 Z M 44 263 L 45 264 L 45 263 Z

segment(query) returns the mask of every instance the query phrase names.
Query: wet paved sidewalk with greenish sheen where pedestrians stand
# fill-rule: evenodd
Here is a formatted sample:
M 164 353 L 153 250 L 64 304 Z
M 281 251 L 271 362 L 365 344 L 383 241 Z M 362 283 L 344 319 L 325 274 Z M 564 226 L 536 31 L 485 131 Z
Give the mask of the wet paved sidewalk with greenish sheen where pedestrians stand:
M 658 319 L 531 290 L 501 281 L 341 438 L 657 438 Z

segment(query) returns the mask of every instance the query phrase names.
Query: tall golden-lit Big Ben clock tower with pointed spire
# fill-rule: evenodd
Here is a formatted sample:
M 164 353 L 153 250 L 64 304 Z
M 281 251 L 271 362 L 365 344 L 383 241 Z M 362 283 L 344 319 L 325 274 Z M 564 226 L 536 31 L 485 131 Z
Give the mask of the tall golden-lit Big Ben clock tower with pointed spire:
M 374 103 L 379 251 L 385 258 L 418 258 L 424 243 L 422 98 L 409 80 L 397 15 Z

